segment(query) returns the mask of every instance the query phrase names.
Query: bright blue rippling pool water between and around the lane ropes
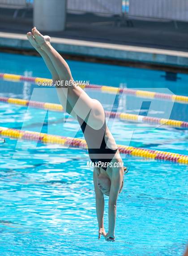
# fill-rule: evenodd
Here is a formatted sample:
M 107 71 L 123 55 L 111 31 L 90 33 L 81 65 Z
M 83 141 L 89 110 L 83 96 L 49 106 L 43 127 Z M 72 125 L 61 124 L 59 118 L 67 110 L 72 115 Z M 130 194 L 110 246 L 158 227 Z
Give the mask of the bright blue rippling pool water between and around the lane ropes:
M 49 77 L 41 58 L 2 54 L 0 72 Z M 96 63 L 68 61 L 77 80 L 90 83 L 154 88 L 186 95 L 188 75 L 167 81 L 165 72 Z M 37 89 L 34 91 L 34 88 Z M 56 91 L 28 82 L 0 80 L 1 95 L 58 103 Z M 146 89 L 145 89 L 146 90 Z M 111 94 L 87 91 L 105 109 L 139 113 L 142 101 L 113 99 Z M 41 97 L 42 95 L 42 97 Z M 151 102 L 148 115 L 187 121 L 187 105 Z M 145 114 L 142 109 L 142 114 Z M 1 103 L 1 126 L 82 138 L 64 113 Z M 44 122 L 45 121 L 45 122 Z M 108 121 L 118 144 L 186 154 L 186 130 L 120 120 Z M 5 138 L 0 144 L 0 252 L 3 256 L 182 256 L 188 238 L 187 167 L 140 157 L 123 156 L 130 171 L 117 203 L 116 241 L 98 241 L 93 171 L 84 149 L 64 148 Z M 107 231 L 107 202 L 104 223 Z

